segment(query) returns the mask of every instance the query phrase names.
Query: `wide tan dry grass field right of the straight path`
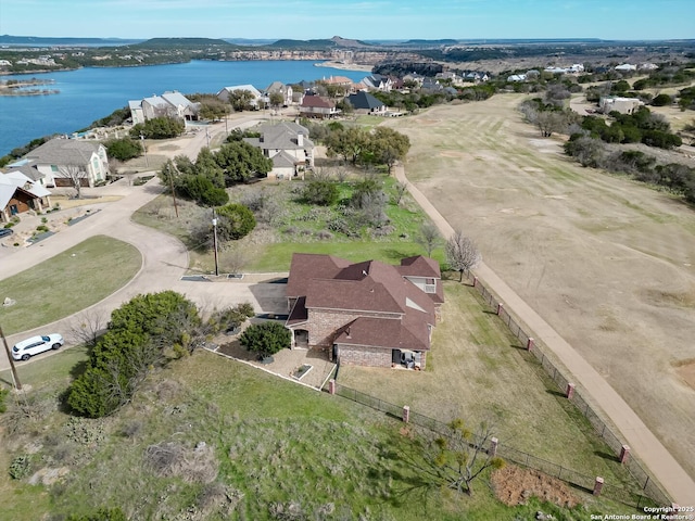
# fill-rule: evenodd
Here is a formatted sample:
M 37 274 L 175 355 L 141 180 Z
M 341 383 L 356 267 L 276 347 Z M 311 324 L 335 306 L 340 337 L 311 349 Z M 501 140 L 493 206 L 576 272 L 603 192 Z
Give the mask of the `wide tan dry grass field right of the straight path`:
M 695 476 L 695 209 L 582 168 L 522 94 L 389 120 L 406 174 Z

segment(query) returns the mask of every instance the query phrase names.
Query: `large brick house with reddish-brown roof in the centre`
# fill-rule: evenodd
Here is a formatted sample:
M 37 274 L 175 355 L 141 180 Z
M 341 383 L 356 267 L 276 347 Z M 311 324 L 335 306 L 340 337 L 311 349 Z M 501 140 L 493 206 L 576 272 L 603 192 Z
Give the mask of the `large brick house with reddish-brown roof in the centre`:
M 287 297 L 293 347 L 328 351 L 340 364 L 425 369 L 444 292 L 431 258 L 393 266 L 295 253 Z

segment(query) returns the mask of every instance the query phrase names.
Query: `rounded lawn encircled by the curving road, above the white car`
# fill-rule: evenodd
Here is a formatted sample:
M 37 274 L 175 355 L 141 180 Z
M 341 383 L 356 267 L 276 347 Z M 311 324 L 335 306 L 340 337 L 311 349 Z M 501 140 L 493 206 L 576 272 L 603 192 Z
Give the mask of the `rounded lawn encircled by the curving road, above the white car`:
M 51 323 L 123 288 L 142 264 L 135 246 L 92 237 L 14 277 L 0 280 L 0 295 L 16 304 L 0 309 L 5 334 Z

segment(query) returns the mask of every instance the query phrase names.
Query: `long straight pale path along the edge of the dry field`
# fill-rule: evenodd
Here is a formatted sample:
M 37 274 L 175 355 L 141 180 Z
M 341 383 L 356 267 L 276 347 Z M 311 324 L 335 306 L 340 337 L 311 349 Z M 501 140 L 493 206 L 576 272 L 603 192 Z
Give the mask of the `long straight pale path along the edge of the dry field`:
M 427 212 L 442 236 L 444 238 L 452 236 L 454 233 L 452 226 L 434 205 L 407 181 L 403 166 L 395 167 L 395 176 L 400 181 L 407 183 L 408 191 Z M 574 378 L 574 383 L 582 387 L 584 395 L 589 395 L 592 404 L 597 404 L 606 417 L 610 418 L 624 436 L 626 444 L 630 446 L 632 453 L 644 461 L 675 503 L 681 506 L 695 505 L 693 479 L 608 382 L 484 263 L 481 263 L 475 274 L 498 296 L 510 315 L 519 318 L 530 328 L 534 339 L 541 340 L 555 353 Z

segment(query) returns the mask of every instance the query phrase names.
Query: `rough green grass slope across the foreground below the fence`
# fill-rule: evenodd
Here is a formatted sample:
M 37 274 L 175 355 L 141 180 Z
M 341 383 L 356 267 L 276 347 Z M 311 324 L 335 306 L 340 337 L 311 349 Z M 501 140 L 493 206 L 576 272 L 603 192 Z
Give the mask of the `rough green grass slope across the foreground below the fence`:
M 188 511 L 199 516 L 191 519 L 211 520 L 531 519 L 543 510 L 579 521 L 592 512 L 630 511 L 590 495 L 581 495 L 584 506 L 572 511 L 535 499 L 506 507 L 486 476 L 473 497 L 427 486 L 417 448 L 399 433 L 399 420 L 206 352 L 150 376 L 132 403 L 110 418 L 71 418 L 56 397 L 74 372 L 71 363 L 83 359 L 84 353 L 68 350 L 37 360 L 26 373 L 27 382 L 36 382 L 29 410 L 40 415 L 25 418 L 3 440 L 0 466 L 8 468 L 33 446 L 38 452 L 27 475 L 45 467 L 70 472 L 54 485 L 28 485 L 1 472 L 7 519 L 101 506 L 119 506 L 130 519 L 179 519 Z M 195 460 L 201 442 L 212 459 Z M 197 466 L 190 473 L 159 474 L 147 454 L 162 444 L 188 450 L 186 465 Z M 195 478 L 202 470 L 211 471 L 207 480 Z

